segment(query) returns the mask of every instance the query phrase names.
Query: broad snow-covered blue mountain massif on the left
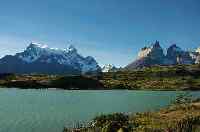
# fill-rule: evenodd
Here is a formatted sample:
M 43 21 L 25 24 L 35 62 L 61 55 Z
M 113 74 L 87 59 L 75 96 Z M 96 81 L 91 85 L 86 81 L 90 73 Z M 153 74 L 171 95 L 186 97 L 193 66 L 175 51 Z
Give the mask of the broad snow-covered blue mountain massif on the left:
M 81 56 L 72 45 L 66 49 L 57 49 L 49 48 L 47 45 L 31 43 L 23 52 L 2 58 L 0 60 L 0 69 L 10 64 L 11 59 L 12 61 L 13 59 L 18 61 L 17 63 L 19 64 L 10 65 L 6 70 L 0 70 L 0 72 L 29 73 L 33 71 L 43 73 L 44 71 L 44 73 L 57 73 L 56 71 L 58 71 L 58 73 L 87 74 L 101 71 L 100 66 L 93 57 Z M 20 69 L 24 66 L 32 67 L 32 70 L 29 67 L 24 70 Z M 15 69 L 16 67 L 19 67 L 20 71 Z M 44 70 L 42 70 L 42 67 L 44 67 Z

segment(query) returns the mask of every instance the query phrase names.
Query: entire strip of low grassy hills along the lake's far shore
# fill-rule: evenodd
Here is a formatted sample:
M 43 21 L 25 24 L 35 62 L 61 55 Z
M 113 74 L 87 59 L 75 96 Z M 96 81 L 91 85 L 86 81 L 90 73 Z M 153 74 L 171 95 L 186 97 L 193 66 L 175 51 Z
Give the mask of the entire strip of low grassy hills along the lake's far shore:
M 99 76 L 7 75 L 0 85 L 19 88 L 200 90 L 200 65 L 154 66 Z

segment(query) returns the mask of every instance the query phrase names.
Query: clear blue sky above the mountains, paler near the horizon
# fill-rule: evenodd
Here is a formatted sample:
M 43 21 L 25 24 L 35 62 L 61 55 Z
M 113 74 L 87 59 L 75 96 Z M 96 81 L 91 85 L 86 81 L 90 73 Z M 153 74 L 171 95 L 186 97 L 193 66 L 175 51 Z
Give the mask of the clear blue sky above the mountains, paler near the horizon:
M 125 66 L 156 40 L 200 46 L 199 0 L 0 0 L 0 56 L 30 42 Z

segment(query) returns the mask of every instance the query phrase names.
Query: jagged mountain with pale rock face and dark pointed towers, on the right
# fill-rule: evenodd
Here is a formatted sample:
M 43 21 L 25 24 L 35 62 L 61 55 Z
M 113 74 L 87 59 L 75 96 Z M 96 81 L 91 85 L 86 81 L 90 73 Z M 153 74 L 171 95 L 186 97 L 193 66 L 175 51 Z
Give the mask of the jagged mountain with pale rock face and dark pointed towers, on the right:
M 156 41 L 150 47 L 144 47 L 138 53 L 138 58 L 127 65 L 125 69 L 137 69 L 153 65 L 176 65 L 176 64 L 194 64 L 200 62 L 200 48 L 194 52 L 182 50 L 176 44 L 167 49 L 165 55 L 163 49 Z

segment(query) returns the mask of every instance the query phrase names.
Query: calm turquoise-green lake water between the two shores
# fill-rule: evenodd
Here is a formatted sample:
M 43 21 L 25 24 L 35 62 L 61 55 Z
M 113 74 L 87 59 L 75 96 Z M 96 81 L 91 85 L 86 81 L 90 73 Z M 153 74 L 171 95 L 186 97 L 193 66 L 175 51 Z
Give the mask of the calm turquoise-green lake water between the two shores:
M 179 92 L 0 90 L 0 132 L 62 132 L 102 113 L 142 112 L 167 106 Z M 191 92 L 200 97 L 200 92 Z

